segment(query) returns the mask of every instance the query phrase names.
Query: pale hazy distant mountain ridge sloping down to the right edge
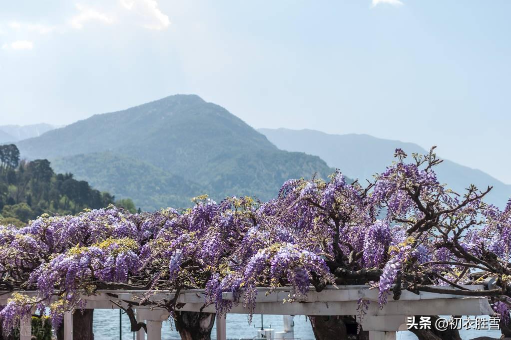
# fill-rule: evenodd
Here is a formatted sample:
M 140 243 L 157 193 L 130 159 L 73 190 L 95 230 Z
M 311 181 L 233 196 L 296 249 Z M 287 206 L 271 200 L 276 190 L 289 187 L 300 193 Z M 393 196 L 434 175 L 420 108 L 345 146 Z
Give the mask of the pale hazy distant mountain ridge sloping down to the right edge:
M 331 167 L 339 168 L 352 178 L 371 179 L 390 165 L 396 148 L 402 148 L 410 157 L 412 152 L 426 153 L 421 146 L 397 140 L 388 140 L 369 135 L 330 135 L 315 130 L 291 130 L 285 128 L 261 128 L 270 142 L 288 151 L 301 151 L 319 156 Z M 441 146 L 438 148 L 441 152 Z M 487 196 L 489 202 L 503 207 L 511 197 L 511 186 L 477 169 L 472 169 L 449 160 L 435 168 L 440 182 L 445 182 L 458 193 L 463 193 L 470 184 L 479 189 L 493 186 Z

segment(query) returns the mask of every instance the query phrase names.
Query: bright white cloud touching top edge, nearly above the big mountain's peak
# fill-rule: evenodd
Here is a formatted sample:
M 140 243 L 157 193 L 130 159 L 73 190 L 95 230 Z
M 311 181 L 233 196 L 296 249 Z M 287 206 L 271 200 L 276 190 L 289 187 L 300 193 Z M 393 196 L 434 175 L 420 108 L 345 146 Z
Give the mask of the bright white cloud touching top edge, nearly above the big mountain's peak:
M 170 25 L 169 16 L 161 12 L 155 0 L 119 0 L 126 10 L 136 13 L 143 19 L 141 25 L 146 29 L 163 30 Z

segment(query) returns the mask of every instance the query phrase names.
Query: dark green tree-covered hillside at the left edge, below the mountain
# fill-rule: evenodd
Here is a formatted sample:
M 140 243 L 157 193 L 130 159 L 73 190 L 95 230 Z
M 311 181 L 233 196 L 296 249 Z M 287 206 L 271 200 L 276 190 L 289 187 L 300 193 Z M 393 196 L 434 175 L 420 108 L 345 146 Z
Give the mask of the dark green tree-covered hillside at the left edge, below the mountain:
M 21 227 L 43 213 L 77 214 L 114 203 L 113 195 L 92 189 L 71 173 L 55 174 L 48 160 L 19 161 L 15 145 L 4 147 L 0 146 L 0 223 Z M 121 204 L 136 211 L 129 199 Z

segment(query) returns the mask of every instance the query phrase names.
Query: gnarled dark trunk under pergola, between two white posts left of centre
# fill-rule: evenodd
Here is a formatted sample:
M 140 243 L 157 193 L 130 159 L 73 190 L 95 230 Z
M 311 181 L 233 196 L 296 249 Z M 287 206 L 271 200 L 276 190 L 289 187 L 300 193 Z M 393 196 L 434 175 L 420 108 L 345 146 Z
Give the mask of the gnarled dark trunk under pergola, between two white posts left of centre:
M 178 311 L 174 319 L 182 340 L 211 340 L 215 313 Z

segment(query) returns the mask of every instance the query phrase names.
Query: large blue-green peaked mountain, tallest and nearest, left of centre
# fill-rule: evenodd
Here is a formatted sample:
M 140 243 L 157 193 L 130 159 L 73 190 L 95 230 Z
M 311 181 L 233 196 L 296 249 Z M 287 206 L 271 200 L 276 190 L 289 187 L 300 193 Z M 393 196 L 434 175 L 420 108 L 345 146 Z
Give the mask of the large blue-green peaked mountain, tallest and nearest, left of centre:
M 17 143 L 21 155 L 46 158 L 145 210 L 252 195 L 267 200 L 289 178 L 326 178 L 317 156 L 278 149 L 224 108 L 196 95 L 174 95 L 98 114 Z M 188 203 L 186 203 L 188 202 Z

